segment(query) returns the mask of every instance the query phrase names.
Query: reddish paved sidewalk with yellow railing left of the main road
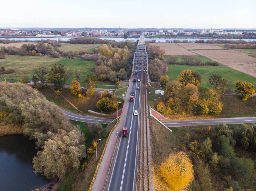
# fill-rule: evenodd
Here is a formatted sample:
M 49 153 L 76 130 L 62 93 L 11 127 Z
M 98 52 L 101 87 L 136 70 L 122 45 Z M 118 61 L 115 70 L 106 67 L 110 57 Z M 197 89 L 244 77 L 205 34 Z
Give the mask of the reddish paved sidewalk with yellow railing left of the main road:
M 126 96 L 125 96 L 125 102 L 124 102 L 124 105 L 123 105 L 123 111 L 122 111 L 122 116 L 121 116 L 121 119 L 120 119 L 120 123 L 114 129 L 113 133 L 111 134 L 111 136 L 109 138 L 108 145 L 107 145 L 106 150 L 105 150 L 105 154 L 102 158 L 102 161 L 101 161 L 100 166 L 99 166 L 98 173 L 97 173 L 95 181 L 93 183 L 92 191 L 100 191 L 100 190 L 103 190 L 103 188 L 104 188 L 104 184 L 105 184 L 105 181 L 106 181 L 106 177 L 108 175 L 108 170 L 109 170 L 110 163 L 111 163 L 111 160 L 112 160 L 112 156 L 113 156 L 113 153 L 114 153 L 115 145 L 116 145 L 116 142 L 117 142 L 116 134 L 120 133 L 120 131 L 122 130 L 122 128 L 125 124 L 127 110 L 128 110 L 129 103 L 130 103 L 129 99 L 130 99 L 131 88 L 132 88 L 132 85 L 133 85 L 132 83 L 133 83 L 133 81 L 130 80 L 129 81 L 129 87 L 128 87 L 128 90 L 127 90 Z

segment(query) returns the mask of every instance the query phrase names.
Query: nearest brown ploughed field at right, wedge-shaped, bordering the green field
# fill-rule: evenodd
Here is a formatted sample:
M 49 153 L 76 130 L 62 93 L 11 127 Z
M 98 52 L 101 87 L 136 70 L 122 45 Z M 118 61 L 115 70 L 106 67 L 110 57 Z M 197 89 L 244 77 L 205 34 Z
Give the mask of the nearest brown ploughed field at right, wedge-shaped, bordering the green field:
M 235 50 L 198 50 L 193 51 L 232 69 L 256 78 L 256 58 Z

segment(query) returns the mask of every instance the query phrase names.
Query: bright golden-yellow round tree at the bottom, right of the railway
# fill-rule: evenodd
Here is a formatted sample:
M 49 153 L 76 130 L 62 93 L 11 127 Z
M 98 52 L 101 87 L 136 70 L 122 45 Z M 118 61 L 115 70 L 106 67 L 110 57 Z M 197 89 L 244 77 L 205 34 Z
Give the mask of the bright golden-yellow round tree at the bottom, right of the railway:
M 168 186 L 173 190 L 188 186 L 194 179 L 193 164 L 183 151 L 170 154 L 169 157 L 161 163 L 160 170 L 164 181 L 166 181 Z

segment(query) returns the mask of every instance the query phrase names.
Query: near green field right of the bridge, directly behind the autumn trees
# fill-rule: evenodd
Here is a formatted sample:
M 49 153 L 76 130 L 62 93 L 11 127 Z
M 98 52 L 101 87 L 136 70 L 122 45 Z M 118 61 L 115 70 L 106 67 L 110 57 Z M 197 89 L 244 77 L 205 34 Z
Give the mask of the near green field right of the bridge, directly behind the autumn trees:
M 207 82 L 211 75 L 217 74 L 231 81 L 233 89 L 235 89 L 235 84 L 237 80 L 246 81 L 252 83 L 256 86 L 256 78 L 249 76 L 245 73 L 236 71 L 226 66 L 188 66 L 188 65 L 168 65 L 168 72 L 163 73 L 163 75 L 168 75 L 170 81 L 177 80 L 178 75 L 181 71 L 186 69 L 197 70 L 202 75 L 202 85 L 208 86 Z M 208 72 L 208 73 L 207 73 Z M 207 73 L 207 74 L 206 74 Z

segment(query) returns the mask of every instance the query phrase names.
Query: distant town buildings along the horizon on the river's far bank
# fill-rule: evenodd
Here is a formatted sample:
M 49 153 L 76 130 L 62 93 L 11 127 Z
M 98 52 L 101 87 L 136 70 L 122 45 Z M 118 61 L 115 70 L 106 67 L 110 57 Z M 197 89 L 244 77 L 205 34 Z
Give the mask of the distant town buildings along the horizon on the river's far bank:
M 131 31 L 131 30 L 116 30 L 109 31 L 107 29 L 92 29 L 92 30 L 22 30 L 22 29 L 8 29 L 0 30 L 0 37 L 134 37 L 139 35 L 141 31 Z M 227 30 L 224 29 L 197 29 L 197 30 L 153 30 L 153 31 L 143 31 L 145 36 L 154 35 L 206 35 L 206 34 L 216 34 L 216 35 L 242 35 L 244 32 L 255 33 L 254 30 Z

